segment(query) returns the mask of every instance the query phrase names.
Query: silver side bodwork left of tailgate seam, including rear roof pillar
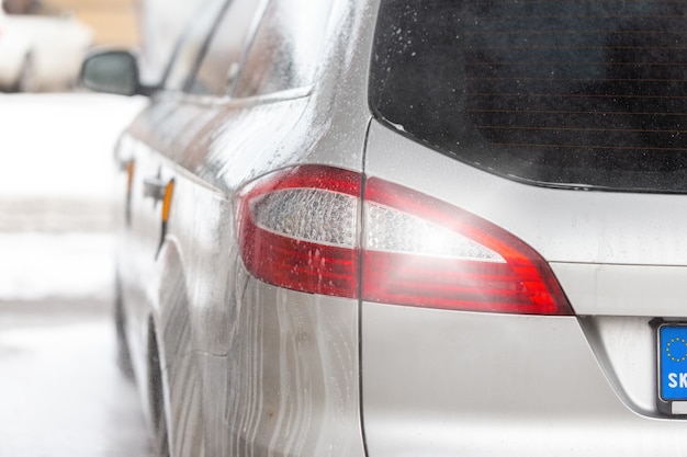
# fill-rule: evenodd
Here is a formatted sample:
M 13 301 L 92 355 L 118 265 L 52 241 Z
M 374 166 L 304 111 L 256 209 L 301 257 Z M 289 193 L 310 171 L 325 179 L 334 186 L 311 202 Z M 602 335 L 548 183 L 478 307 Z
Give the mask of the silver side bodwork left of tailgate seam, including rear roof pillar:
M 135 163 L 117 261 L 127 340 L 149 404 L 154 323 L 174 455 L 363 454 L 359 302 L 257 281 L 236 244 L 237 192 L 250 181 L 300 163 L 362 169 L 364 93 L 335 99 L 331 88 L 364 80 L 349 66 L 367 55 L 344 38 L 369 35 L 354 27 L 361 5 L 334 5 L 323 53 L 336 58 L 318 70 L 327 90 L 243 100 L 162 91 L 120 141 L 116 160 Z M 150 176 L 174 181 L 162 238 L 161 204 L 143 196 Z

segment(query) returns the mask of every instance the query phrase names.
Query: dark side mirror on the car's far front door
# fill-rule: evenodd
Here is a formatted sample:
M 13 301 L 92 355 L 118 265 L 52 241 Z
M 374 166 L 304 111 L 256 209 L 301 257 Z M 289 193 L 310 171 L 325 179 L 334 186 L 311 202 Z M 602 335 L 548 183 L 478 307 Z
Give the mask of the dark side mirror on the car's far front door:
M 140 85 L 138 61 L 127 50 L 104 50 L 90 54 L 81 67 L 81 85 L 97 92 L 119 95 L 147 94 Z

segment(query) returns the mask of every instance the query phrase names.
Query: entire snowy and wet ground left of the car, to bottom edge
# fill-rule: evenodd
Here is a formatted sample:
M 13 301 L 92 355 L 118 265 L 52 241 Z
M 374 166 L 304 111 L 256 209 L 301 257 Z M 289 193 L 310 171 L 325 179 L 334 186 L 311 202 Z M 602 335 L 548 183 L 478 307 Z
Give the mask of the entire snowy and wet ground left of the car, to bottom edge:
M 112 149 L 140 99 L 0 94 L 0 457 L 143 457 L 117 370 Z

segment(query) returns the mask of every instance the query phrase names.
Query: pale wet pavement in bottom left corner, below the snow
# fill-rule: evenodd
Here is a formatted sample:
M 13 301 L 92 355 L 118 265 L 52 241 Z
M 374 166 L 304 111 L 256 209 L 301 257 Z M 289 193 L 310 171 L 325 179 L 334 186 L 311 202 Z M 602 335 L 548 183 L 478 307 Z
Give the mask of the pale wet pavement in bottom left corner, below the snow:
M 66 302 L 22 305 L 0 319 L 0 456 L 151 455 L 108 317 Z

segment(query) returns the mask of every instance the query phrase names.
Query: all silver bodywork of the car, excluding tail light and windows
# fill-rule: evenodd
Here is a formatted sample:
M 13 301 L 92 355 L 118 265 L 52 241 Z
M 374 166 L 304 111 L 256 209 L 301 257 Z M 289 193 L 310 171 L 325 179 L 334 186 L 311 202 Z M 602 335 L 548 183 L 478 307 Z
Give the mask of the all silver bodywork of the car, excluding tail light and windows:
M 246 99 L 161 89 L 120 141 L 134 173 L 117 272 L 150 422 L 154 334 L 177 456 L 685 454 L 687 425 L 656 403 L 655 325 L 687 320 L 687 198 L 516 182 L 373 119 L 378 7 L 333 0 L 312 85 Z M 384 305 L 252 277 L 241 192 L 304 164 L 507 230 L 551 266 L 576 316 Z M 167 221 L 146 179 L 173 180 Z

